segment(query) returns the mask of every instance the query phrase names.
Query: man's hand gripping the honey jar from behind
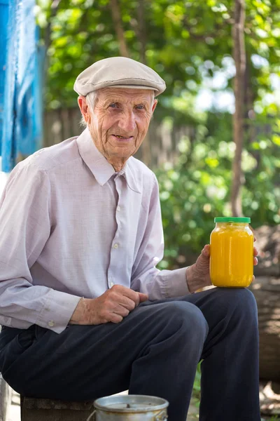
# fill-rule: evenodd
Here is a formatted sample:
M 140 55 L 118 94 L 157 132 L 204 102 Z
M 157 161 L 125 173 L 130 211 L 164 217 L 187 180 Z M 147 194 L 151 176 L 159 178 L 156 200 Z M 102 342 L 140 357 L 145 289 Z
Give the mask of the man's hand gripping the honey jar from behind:
M 254 238 L 255 241 L 255 238 Z M 254 247 L 253 248 L 253 265 L 258 265 L 258 250 Z M 204 286 L 212 285 L 210 279 L 210 246 L 207 244 L 202 249 L 202 252 L 197 258 L 197 261 L 194 265 L 190 266 L 186 270 L 186 279 L 188 283 L 188 290 L 190 293 L 195 293 L 200 288 L 204 288 Z M 252 281 L 255 280 L 255 276 L 253 276 Z

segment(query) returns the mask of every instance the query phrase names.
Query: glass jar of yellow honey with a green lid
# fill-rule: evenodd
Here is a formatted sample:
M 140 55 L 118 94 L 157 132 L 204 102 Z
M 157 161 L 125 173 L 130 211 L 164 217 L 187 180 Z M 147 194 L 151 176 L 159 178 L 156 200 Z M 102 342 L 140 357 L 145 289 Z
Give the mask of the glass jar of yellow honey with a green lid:
M 210 236 L 210 278 L 214 286 L 242 288 L 253 279 L 251 218 L 215 218 Z

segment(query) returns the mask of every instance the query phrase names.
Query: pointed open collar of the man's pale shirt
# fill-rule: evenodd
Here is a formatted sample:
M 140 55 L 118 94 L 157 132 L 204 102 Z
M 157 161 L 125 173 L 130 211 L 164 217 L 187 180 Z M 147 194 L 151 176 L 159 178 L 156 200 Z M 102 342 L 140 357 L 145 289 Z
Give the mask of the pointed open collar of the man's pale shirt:
M 127 159 L 123 169 L 119 173 L 116 173 L 111 163 L 106 160 L 105 156 L 94 145 L 88 128 L 78 137 L 77 145 L 81 158 L 88 168 L 90 168 L 99 185 L 103 186 L 114 174 L 123 175 L 130 189 L 134 192 L 141 193 L 140 183 L 137 180 L 137 174 L 130 158 Z

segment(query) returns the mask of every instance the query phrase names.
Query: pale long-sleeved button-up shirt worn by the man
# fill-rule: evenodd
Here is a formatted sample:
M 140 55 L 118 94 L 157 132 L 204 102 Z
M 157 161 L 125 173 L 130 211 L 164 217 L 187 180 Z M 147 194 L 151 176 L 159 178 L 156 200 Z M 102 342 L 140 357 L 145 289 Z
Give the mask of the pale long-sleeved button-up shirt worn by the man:
M 119 284 L 150 300 L 186 295 L 186 268 L 158 270 L 158 182 L 130 157 L 118 173 L 86 129 L 10 173 L 0 202 L 0 323 L 57 333 L 80 297 Z

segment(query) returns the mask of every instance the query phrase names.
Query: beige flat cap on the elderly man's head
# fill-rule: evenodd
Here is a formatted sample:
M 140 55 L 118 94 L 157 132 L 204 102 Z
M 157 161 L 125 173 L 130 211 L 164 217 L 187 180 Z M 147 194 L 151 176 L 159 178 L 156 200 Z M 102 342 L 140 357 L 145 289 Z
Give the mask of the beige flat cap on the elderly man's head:
M 151 89 L 155 96 L 165 91 L 165 81 L 151 67 L 131 58 L 112 57 L 95 62 L 80 73 L 74 91 L 87 95 L 102 88 Z

